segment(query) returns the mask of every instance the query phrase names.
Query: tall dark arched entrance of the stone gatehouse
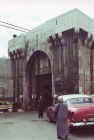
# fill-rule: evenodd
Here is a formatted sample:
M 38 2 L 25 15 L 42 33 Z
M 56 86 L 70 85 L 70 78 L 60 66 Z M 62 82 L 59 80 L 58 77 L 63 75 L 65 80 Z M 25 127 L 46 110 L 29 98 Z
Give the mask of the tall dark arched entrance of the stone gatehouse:
M 52 104 L 52 73 L 50 60 L 43 51 L 36 51 L 27 65 L 28 93 L 32 110 L 37 110 L 40 96 L 45 108 Z

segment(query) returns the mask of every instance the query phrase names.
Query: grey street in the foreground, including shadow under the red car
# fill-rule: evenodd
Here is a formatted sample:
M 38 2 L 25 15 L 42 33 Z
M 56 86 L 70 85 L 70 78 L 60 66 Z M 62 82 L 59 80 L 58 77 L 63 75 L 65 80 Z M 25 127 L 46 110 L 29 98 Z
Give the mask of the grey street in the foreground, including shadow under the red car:
M 69 134 L 69 140 L 94 140 L 92 129 L 77 129 Z M 0 114 L 0 140 L 58 140 L 56 125 L 38 119 L 35 112 Z

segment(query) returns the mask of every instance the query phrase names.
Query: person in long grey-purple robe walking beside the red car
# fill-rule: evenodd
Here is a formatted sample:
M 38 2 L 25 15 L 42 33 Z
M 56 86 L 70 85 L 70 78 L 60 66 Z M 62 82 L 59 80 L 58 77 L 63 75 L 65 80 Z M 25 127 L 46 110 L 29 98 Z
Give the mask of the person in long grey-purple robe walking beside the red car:
M 63 103 L 63 98 L 58 98 L 58 104 L 55 107 L 56 127 L 57 127 L 57 138 L 61 140 L 67 140 L 68 138 L 68 108 Z

